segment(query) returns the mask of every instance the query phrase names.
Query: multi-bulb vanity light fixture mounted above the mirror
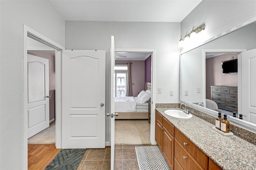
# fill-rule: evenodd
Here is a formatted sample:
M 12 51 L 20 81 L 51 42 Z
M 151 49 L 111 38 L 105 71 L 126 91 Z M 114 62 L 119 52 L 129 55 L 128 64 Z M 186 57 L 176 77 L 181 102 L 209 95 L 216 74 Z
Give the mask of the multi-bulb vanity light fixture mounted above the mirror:
M 187 31 L 186 35 L 182 35 L 180 37 L 180 42 L 179 42 L 178 47 L 184 47 L 184 43 L 187 43 L 188 40 L 190 40 L 190 39 L 194 39 L 196 34 L 199 33 L 200 31 L 203 31 L 204 29 L 205 29 L 205 25 L 204 24 L 201 25 L 200 27 L 194 26 L 192 28 L 192 31 Z

